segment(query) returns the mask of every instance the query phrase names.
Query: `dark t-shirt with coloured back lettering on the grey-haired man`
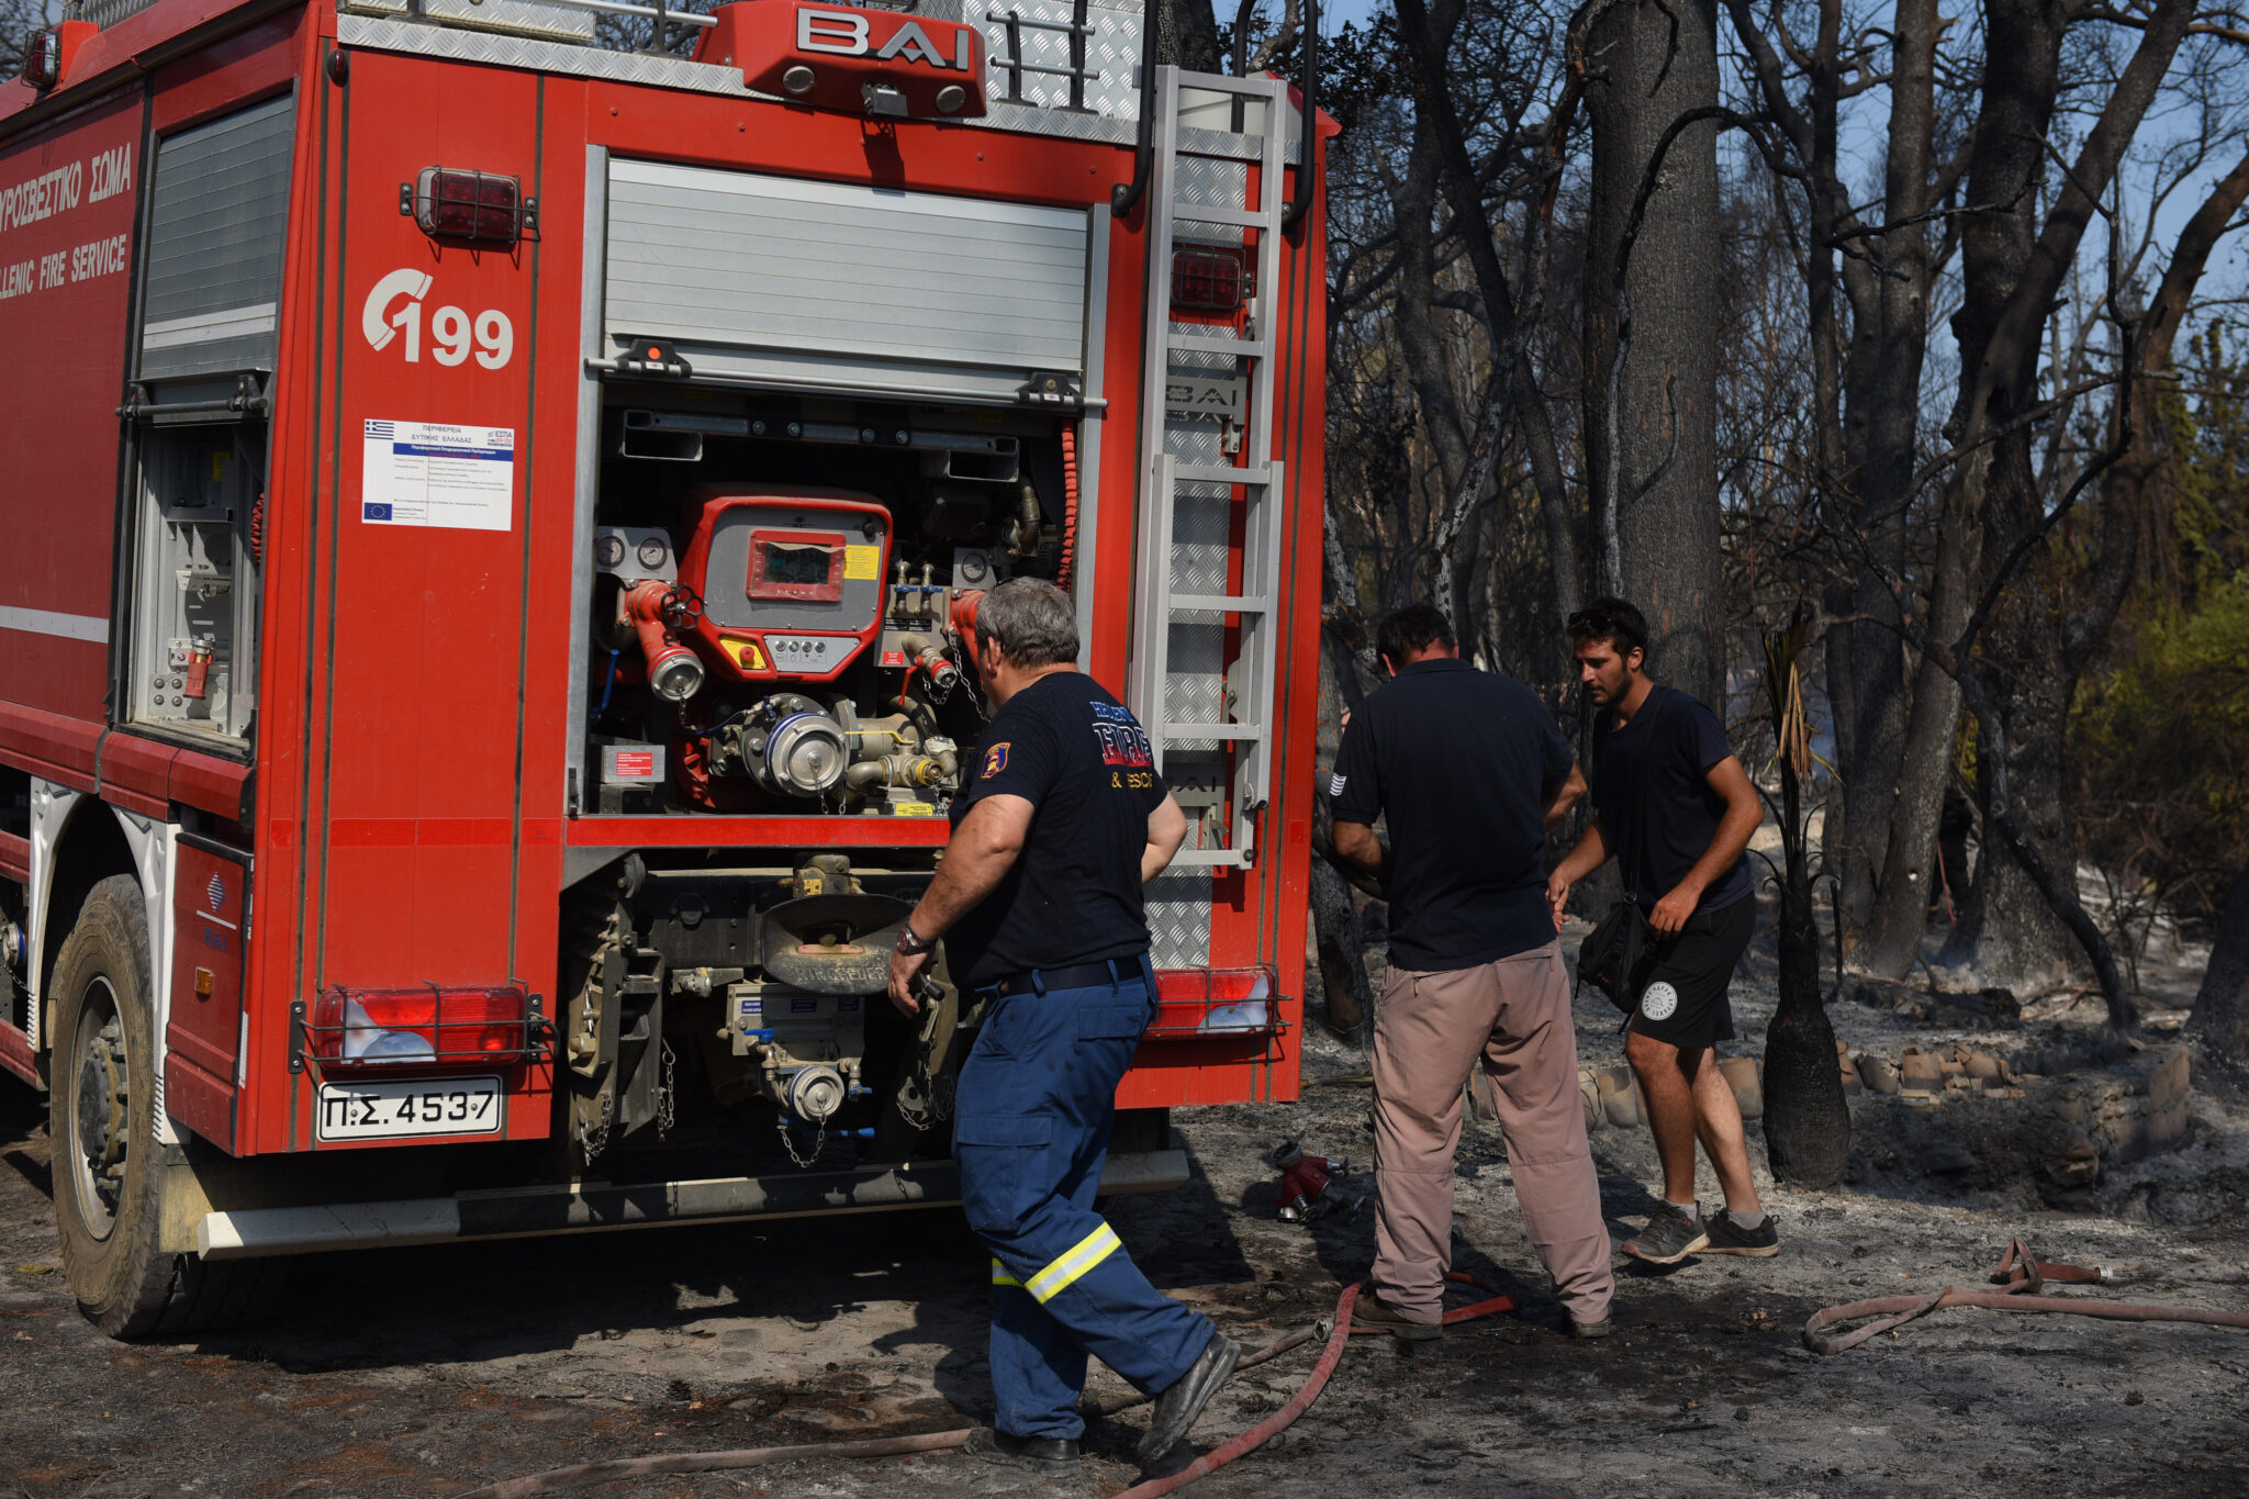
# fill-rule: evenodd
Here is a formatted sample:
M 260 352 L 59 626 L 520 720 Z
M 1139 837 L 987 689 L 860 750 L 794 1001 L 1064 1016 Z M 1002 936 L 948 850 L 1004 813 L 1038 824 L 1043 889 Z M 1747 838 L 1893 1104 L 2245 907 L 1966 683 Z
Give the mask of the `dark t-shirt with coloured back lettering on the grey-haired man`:
M 1032 681 L 985 728 L 954 827 L 1001 791 L 1032 805 L 1030 832 L 999 888 L 945 933 L 954 982 L 1145 953 L 1140 852 L 1167 791 L 1131 712 L 1082 672 Z

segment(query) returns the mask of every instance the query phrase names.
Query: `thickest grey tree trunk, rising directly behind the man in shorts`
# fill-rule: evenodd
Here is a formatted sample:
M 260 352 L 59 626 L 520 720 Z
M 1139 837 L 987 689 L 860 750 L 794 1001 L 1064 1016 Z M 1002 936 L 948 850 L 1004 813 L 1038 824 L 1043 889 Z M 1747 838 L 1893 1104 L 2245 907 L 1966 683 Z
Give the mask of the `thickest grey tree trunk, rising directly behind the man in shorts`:
M 1615 369 L 1615 267 L 1649 160 L 1676 119 L 1718 101 L 1716 4 L 1595 2 L 1581 56 L 1592 117 L 1583 425 L 1595 578 L 1649 616 L 1653 670 L 1723 710 L 1716 119 L 1689 126 L 1664 155 L 1624 274 L 1631 342 Z

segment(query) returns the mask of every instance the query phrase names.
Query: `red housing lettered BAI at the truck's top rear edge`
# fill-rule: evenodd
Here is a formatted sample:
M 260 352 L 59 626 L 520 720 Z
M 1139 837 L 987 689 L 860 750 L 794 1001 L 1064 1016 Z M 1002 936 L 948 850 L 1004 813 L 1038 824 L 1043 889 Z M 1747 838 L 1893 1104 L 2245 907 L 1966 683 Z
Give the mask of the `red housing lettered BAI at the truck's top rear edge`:
M 985 43 L 972 25 L 816 0 L 744 0 L 711 16 L 695 61 L 740 67 L 762 94 L 852 115 L 985 112 Z

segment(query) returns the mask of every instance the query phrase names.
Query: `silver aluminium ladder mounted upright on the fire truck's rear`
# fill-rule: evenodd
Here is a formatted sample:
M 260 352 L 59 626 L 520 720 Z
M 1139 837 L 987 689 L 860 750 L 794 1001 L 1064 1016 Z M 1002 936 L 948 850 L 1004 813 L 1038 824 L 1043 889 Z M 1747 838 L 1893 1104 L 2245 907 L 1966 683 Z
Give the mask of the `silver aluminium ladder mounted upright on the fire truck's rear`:
M 1174 867 L 1248 867 L 1257 858 L 1257 814 L 1271 791 L 1275 751 L 1282 465 L 1271 456 L 1280 333 L 1273 310 L 1293 110 L 1284 79 L 1181 74 L 1163 65 L 1154 88 L 1142 497 L 1127 706 L 1192 823 Z M 1203 130 L 1183 121 L 1183 112 L 1241 124 Z M 1241 333 L 1174 321 L 1172 252 L 1241 245 L 1248 234 L 1257 236 L 1255 281 L 1244 297 Z M 1210 396 L 1219 407 L 1239 402 L 1237 416 L 1217 423 L 1199 414 Z M 1181 405 L 1185 416 L 1174 416 Z M 1239 573 L 1232 537 L 1241 548 Z M 1232 816 L 1223 816 L 1228 746 Z

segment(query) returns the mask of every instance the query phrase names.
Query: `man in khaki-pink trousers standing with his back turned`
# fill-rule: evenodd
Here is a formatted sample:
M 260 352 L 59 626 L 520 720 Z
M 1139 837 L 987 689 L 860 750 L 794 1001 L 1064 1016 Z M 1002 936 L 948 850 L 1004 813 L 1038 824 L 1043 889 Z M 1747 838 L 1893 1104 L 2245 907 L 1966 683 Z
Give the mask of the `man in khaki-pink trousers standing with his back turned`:
M 1586 791 L 1529 688 L 1460 658 L 1428 605 L 1381 623 L 1390 681 L 1352 715 L 1329 796 L 1336 852 L 1390 890 L 1374 1020 L 1374 1294 L 1354 1324 L 1442 1335 L 1462 1083 L 1491 1076 L 1523 1229 L 1579 1337 L 1606 1337 L 1615 1274 L 1577 1090 L 1545 834 Z M 1390 827 L 1390 858 L 1374 818 Z

